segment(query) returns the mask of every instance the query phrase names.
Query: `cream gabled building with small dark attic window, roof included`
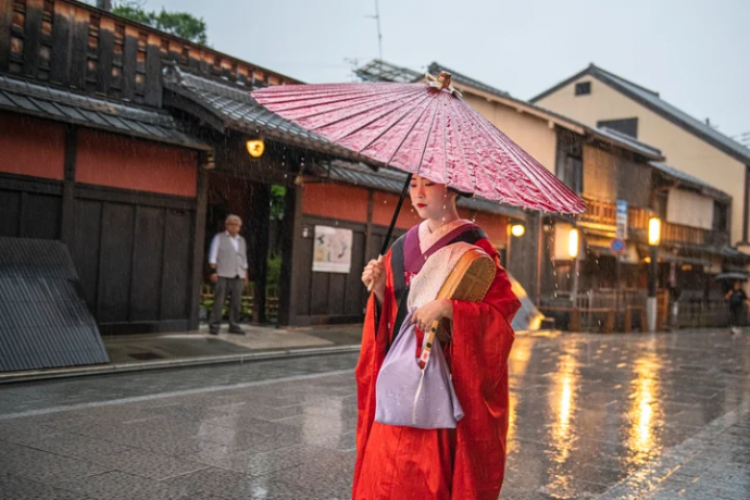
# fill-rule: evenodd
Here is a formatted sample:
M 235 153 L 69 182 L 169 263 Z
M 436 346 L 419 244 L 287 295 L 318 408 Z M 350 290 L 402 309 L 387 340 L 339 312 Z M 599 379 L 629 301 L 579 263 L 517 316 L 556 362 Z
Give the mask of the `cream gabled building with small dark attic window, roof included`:
M 697 120 L 659 92 L 595 64 L 542 91 L 532 102 L 660 148 L 672 167 L 732 197 L 732 211 L 716 216 L 726 217 L 730 246 L 748 245 L 750 149 L 718 132 L 708 118 Z

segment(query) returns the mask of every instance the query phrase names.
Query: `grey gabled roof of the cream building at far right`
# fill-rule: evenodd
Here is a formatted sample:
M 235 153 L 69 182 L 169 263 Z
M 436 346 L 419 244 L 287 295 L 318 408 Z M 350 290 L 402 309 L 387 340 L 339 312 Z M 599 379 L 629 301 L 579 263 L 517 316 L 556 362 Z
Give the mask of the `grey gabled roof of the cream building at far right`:
M 646 108 L 654 111 L 670 122 L 676 124 L 677 126 L 684 128 L 685 130 L 691 133 L 692 135 L 699 137 L 700 139 L 709 142 L 710 145 L 718 148 L 730 157 L 746 163 L 750 163 L 750 149 L 746 148 L 736 140 L 725 136 L 721 132 L 713 128 L 700 120 L 697 120 L 683 110 L 670 104 L 664 101 L 659 92 L 649 90 L 640 85 L 636 85 L 621 76 L 610 73 L 601 67 L 591 64 L 586 70 L 573 75 L 572 77 L 559 83 L 558 85 L 545 90 L 540 95 L 533 98 L 530 101 L 536 102 L 546 96 L 565 87 L 572 82 L 577 80 L 584 75 L 591 75 L 597 79 L 608 84 L 615 90 L 624 93 L 636 102 L 645 105 Z

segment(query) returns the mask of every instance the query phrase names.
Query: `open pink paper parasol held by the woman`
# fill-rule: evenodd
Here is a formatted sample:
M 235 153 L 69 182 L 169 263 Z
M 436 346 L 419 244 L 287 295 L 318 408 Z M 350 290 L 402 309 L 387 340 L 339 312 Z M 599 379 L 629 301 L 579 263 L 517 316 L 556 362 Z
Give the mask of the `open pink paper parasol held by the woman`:
M 275 86 L 252 97 L 336 145 L 459 191 L 526 209 L 586 210 L 575 192 L 466 104 L 448 73 L 417 84 Z

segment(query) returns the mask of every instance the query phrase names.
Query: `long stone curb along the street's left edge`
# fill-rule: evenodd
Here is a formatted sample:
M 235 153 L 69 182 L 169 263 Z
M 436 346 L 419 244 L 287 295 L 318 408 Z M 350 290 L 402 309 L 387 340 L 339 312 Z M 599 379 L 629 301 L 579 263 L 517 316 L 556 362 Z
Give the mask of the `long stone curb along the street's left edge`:
M 75 366 L 66 368 L 35 370 L 0 374 L 0 385 L 49 380 L 54 378 L 82 377 L 88 375 L 107 375 L 115 373 L 145 372 L 186 366 L 201 366 L 209 364 L 246 363 L 253 361 L 268 361 L 287 358 L 303 358 L 309 355 L 338 354 L 358 352 L 360 346 L 332 346 L 318 348 L 279 349 L 265 352 L 250 352 L 247 354 L 207 355 L 197 358 L 180 358 L 176 360 L 145 361 L 142 363 L 112 363 L 100 366 Z

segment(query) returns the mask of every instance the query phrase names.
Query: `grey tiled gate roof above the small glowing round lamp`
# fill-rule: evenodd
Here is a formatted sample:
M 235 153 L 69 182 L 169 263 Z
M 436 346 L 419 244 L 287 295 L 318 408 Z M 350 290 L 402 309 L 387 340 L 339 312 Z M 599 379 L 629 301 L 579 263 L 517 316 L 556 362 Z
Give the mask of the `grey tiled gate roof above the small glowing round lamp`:
M 283 142 L 321 151 L 346 159 L 358 155 L 327 139 L 311 134 L 258 104 L 250 91 L 253 88 L 230 82 L 216 82 L 198 76 L 177 66 L 166 66 L 164 86 L 183 99 L 207 110 L 224 127 L 237 128 L 251 134 L 260 134 Z M 179 100 L 168 100 L 167 105 L 179 108 Z M 189 110 L 186 110 L 189 113 Z

